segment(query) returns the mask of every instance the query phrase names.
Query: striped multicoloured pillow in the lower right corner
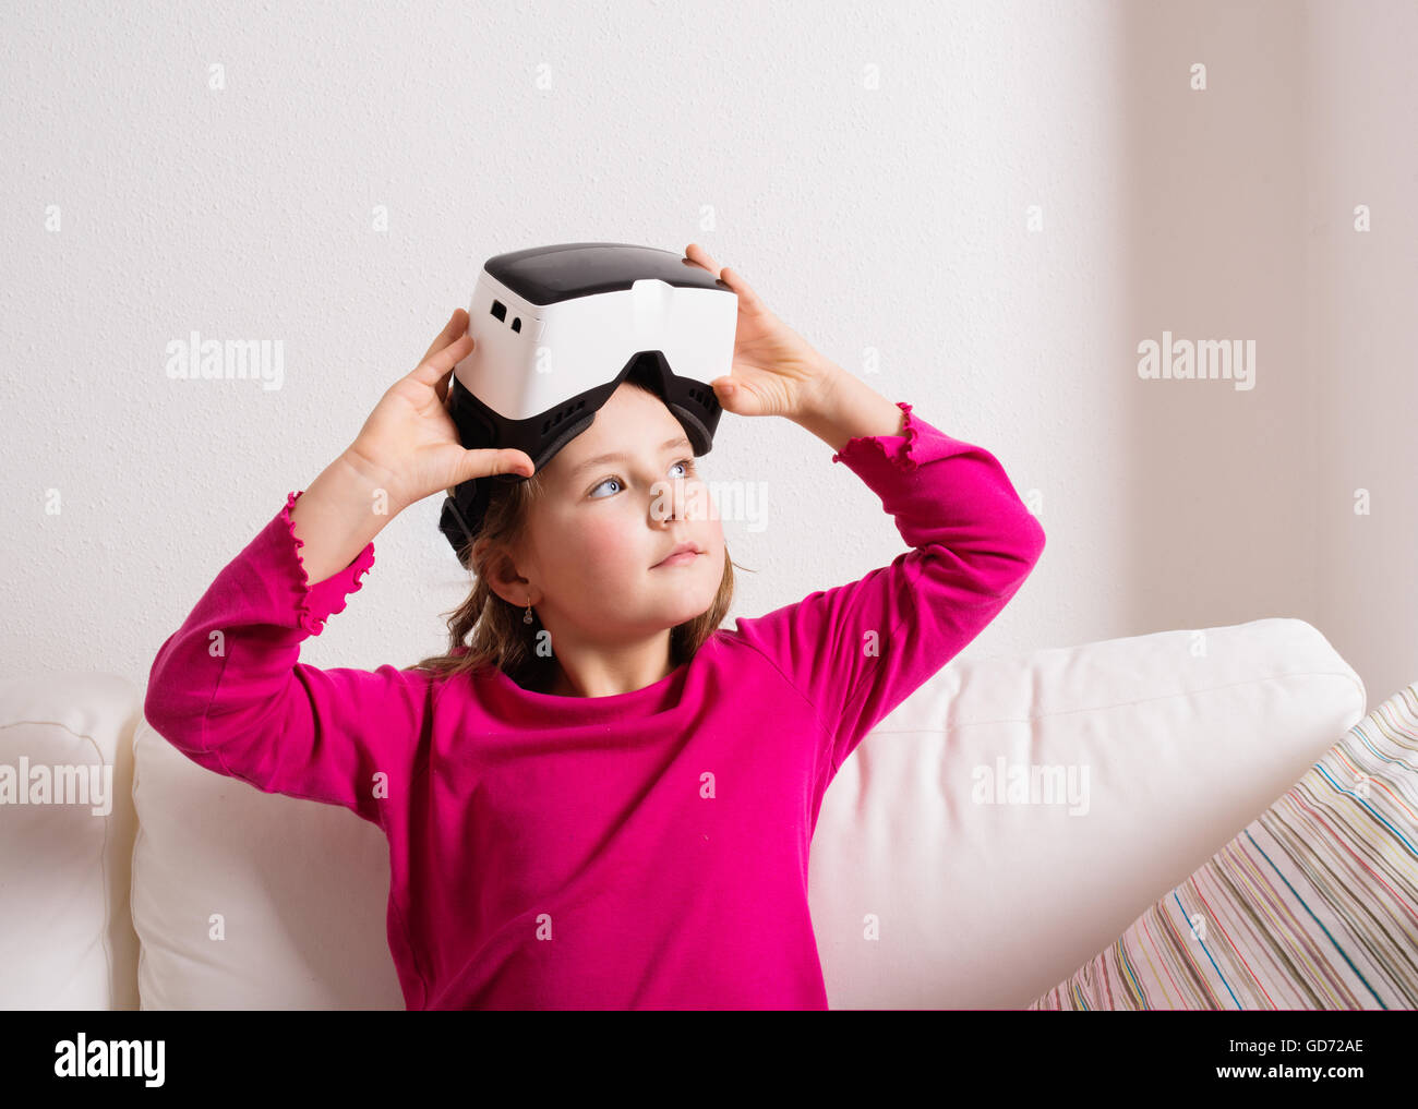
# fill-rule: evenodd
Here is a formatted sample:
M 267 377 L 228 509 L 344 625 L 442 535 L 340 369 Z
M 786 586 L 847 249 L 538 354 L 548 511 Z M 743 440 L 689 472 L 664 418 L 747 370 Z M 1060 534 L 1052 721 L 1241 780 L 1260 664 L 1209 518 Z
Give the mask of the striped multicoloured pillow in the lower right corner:
M 1418 682 L 1029 1008 L 1418 1008 Z

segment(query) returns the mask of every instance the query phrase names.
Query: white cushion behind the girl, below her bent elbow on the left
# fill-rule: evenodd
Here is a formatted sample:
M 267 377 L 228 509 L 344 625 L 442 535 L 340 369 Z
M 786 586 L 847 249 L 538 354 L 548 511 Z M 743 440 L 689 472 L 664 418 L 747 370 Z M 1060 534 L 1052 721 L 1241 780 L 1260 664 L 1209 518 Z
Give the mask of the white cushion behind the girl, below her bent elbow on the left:
M 146 719 L 135 756 L 145 1010 L 404 1008 L 383 831 L 206 770 Z

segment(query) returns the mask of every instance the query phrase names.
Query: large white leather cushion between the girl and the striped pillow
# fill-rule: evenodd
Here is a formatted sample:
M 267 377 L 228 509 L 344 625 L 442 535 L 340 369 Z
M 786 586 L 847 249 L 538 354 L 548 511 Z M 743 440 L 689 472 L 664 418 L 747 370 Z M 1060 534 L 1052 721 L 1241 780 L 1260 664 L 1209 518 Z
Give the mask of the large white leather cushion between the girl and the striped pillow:
M 1027 1007 L 1285 794 L 1364 702 L 1300 620 L 956 659 L 822 801 L 810 903 L 830 1004 Z M 1007 774 L 1086 771 L 1086 813 L 977 800 L 977 767 L 1001 757 Z

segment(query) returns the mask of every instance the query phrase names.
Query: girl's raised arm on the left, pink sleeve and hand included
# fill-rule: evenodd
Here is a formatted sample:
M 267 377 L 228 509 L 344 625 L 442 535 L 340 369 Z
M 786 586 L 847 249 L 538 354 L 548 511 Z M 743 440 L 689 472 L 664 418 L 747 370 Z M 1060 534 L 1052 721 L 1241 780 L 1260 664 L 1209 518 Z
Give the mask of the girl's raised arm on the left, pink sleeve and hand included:
M 153 661 L 143 710 L 190 759 L 267 793 L 342 804 L 380 824 L 407 797 L 431 676 L 391 665 L 316 669 L 301 642 L 345 610 L 374 536 L 408 505 L 469 478 L 530 474 L 522 451 L 467 451 L 445 408 L 472 349 L 454 312 L 359 437 L 217 576 Z

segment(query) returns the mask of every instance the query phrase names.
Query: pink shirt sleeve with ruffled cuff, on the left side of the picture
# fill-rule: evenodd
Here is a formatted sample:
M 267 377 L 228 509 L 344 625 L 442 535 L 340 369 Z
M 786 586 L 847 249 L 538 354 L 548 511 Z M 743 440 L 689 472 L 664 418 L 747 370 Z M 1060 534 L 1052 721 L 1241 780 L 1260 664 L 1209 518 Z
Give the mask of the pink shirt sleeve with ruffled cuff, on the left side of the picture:
M 381 824 L 387 798 L 407 796 L 430 691 L 417 674 L 393 667 L 299 662 L 301 642 L 345 610 L 374 563 L 367 542 L 343 569 L 311 581 L 291 518 L 305 496 L 286 498 L 163 642 L 143 713 L 208 770 Z

